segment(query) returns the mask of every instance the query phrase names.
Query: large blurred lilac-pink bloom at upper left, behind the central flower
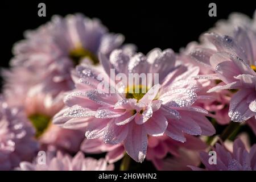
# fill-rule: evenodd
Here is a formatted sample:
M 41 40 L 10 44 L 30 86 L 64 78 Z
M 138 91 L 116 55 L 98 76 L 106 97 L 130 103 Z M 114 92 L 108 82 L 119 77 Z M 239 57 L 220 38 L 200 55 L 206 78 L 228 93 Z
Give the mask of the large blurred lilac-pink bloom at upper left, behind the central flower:
M 108 56 L 124 40 L 120 34 L 110 34 L 100 20 L 81 14 L 53 16 L 24 36 L 26 39 L 14 46 L 11 71 L 3 73 L 9 88 L 5 93 L 10 97 L 13 92 L 27 93 L 32 86 L 53 97 L 73 89 L 71 71 L 75 65 L 81 61 L 98 65 L 99 52 Z M 20 84 L 23 88 L 17 89 Z

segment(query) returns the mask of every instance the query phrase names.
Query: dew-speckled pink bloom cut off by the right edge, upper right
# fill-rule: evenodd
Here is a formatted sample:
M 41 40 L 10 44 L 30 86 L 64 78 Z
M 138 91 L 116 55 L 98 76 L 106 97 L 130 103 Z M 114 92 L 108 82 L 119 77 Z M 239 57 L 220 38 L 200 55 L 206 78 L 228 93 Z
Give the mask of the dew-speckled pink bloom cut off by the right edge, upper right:
M 203 45 L 196 47 L 191 55 L 216 72 L 217 78 L 222 81 L 209 92 L 224 89 L 238 90 L 230 100 L 228 115 L 231 120 L 234 122 L 248 120 L 253 126 L 256 123 L 256 31 L 249 26 L 231 29 L 232 37 L 214 33 L 204 34 Z

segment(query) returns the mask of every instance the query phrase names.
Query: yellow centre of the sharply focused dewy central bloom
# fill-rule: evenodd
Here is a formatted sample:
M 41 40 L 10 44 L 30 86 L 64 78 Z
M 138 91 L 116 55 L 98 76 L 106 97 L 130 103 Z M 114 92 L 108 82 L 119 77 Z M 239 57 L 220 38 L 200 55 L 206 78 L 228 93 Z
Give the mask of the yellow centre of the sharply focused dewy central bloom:
M 126 98 L 135 98 L 137 101 L 139 101 L 144 96 L 144 94 L 147 93 L 147 91 L 148 88 L 144 85 L 127 86 L 125 89 Z

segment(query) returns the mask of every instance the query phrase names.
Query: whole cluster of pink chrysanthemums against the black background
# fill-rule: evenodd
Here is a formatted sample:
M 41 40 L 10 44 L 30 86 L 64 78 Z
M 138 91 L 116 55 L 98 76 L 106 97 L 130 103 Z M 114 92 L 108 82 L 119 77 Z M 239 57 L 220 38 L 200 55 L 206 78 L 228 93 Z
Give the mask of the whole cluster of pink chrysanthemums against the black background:
M 232 14 L 179 53 L 144 55 L 81 14 L 24 36 L 2 71 L 0 169 L 256 170 L 238 135 L 256 134 L 256 17 Z

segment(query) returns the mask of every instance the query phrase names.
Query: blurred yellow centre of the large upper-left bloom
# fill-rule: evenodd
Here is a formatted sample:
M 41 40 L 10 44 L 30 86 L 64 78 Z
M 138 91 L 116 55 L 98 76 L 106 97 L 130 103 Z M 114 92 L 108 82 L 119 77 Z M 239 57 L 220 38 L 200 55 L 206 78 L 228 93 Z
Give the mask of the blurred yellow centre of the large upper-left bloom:
M 69 52 L 69 57 L 73 60 L 75 65 L 79 64 L 84 58 L 88 58 L 94 65 L 100 63 L 98 58 L 90 51 L 84 49 L 82 46 L 78 46 Z

